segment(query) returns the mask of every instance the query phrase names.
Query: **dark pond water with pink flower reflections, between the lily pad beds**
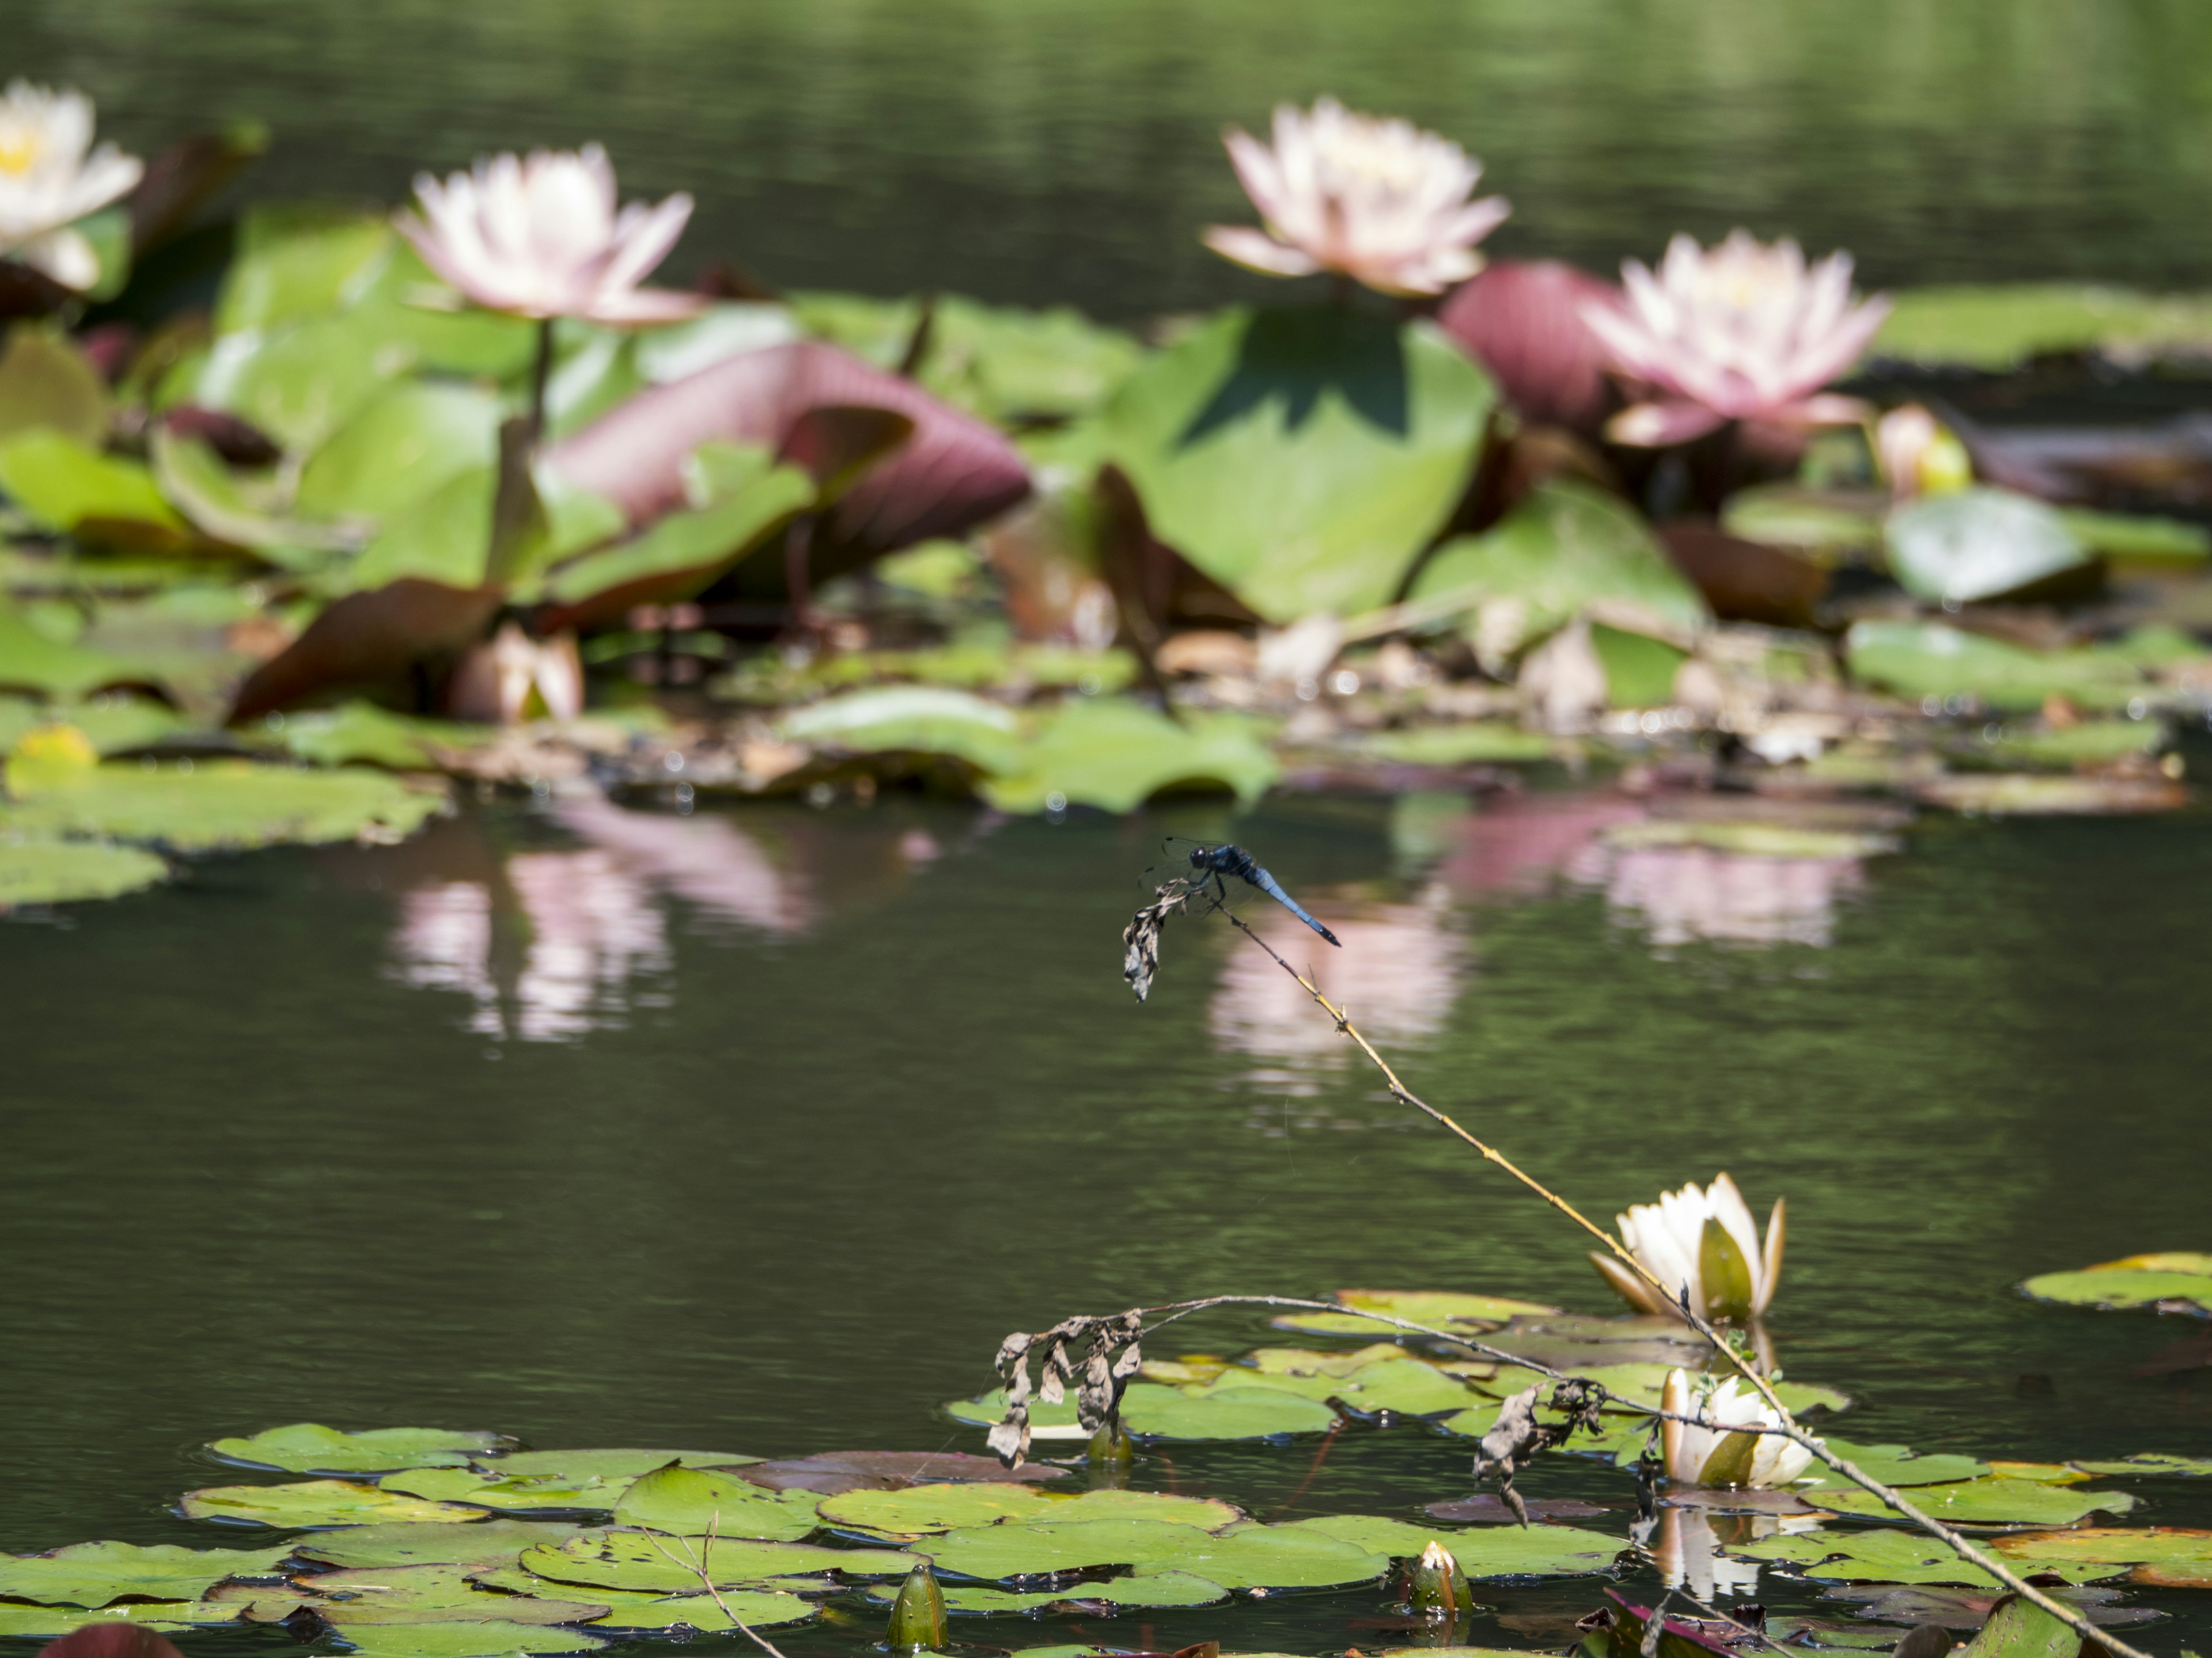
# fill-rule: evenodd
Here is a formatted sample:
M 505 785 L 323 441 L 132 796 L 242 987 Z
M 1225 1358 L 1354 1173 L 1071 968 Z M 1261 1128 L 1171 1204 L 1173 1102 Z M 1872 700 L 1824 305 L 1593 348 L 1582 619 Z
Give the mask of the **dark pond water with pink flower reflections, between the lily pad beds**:
M 1787 1194 L 1774 1337 L 1858 1399 L 1851 1439 L 2212 1448 L 2205 1371 L 2139 1373 L 2197 1320 L 2013 1289 L 2205 1245 L 2205 822 L 1927 820 L 1905 856 L 1778 864 L 1608 853 L 1624 811 L 1292 796 L 1234 831 L 1345 940 L 1327 982 L 1409 1081 L 1590 1211 L 1717 1167 Z M 0 1547 L 217 1541 L 164 1512 L 223 1483 L 199 1441 L 279 1421 L 980 1450 L 940 1402 L 1071 1311 L 1340 1284 L 1608 1311 L 1575 1236 L 1219 922 L 1170 924 L 1128 997 L 1139 871 L 1228 827 L 555 800 L 0 926 Z M 1265 1333 L 1206 1318 L 1155 1355 Z M 1303 1494 L 1310 1446 L 1177 1446 L 1135 1483 L 1413 1519 L 1467 1459 L 1400 1426 Z M 1559 1459 L 1524 1488 L 1628 1494 Z M 2212 1521 L 2205 1481 L 2141 1490 L 2137 1521 Z M 960 1634 L 1340 1651 L 1398 1640 L 1356 1623 L 1380 1598 Z M 1522 1623 L 1478 1640 L 1559 1645 L 1597 1583 L 1480 1598 Z M 2183 1614 L 2135 1631 L 2157 1651 L 2212 1629 L 2137 1601 Z

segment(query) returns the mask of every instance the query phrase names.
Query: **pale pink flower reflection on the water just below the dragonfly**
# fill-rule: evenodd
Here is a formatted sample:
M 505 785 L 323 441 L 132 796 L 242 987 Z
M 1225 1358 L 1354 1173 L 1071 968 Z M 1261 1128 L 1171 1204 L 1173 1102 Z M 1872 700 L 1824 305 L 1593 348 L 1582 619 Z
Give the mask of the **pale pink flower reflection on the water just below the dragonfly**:
M 1239 911 L 1283 959 L 1312 968 L 1314 984 L 1352 1010 L 1374 1041 L 1425 1041 L 1444 1028 L 1460 993 L 1460 935 L 1447 926 L 1442 893 L 1418 904 L 1329 906 L 1314 902 L 1340 948 L 1307 948 L 1314 935 L 1296 915 L 1267 904 Z M 1248 1079 L 1290 1094 L 1314 1094 L 1314 1068 L 1340 1068 L 1347 1043 L 1321 1017 L 1296 982 L 1254 951 L 1234 942 L 1221 986 L 1208 1008 L 1214 1043 L 1274 1061 Z

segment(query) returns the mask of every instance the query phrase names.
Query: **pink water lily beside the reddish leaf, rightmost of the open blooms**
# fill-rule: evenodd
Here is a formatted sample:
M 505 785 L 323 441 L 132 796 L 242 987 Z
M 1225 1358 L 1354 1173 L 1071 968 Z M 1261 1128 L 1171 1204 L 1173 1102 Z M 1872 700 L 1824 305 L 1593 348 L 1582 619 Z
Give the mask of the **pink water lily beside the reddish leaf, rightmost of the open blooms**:
M 1889 316 L 1882 296 L 1851 303 L 1851 256 L 1805 263 L 1794 241 L 1736 230 L 1719 248 L 1668 243 L 1659 270 L 1621 263 L 1626 307 L 1586 305 L 1615 369 L 1641 389 L 1606 436 L 1679 444 L 1730 420 L 1825 427 L 1865 420 L 1858 398 L 1823 396 Z

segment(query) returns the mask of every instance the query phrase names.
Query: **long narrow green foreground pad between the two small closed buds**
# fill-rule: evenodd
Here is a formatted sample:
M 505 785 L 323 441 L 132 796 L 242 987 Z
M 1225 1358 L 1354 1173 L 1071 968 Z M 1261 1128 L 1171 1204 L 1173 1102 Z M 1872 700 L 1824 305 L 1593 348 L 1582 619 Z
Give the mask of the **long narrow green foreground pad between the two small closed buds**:
M 1225 1589 L 1367 1583 L 1389 1567 L 1387 1559 L 1363 1547 L 1285 1525 L 1245 1523 L 1206 1532 L 1135 1519 L 971 1525 L 927 1539 L 916 1552 L 940 1572 L 969 1578 L 1135 1565 L 1192 1572 Z

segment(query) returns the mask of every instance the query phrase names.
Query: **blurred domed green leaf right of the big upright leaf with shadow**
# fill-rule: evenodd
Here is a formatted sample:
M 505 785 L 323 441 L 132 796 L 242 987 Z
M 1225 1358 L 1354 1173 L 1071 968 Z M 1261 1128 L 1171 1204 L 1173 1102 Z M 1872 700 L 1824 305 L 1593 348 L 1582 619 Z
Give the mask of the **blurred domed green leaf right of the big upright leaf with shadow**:
M 1464 595 L 1469 608 L 1517 608 L 1517 641 L 1535 641 L 1590 606 L 1608 619 L 1648 617 L 1694 632 L 1712 619 L 1705 599 L 1674 568 L 1650 524 L 1617 495 L 1590 484 L 1540 484 L 1495 528 L 1444 542 L 1420 566 L 1411 599 Z M 1668 696 L 1637 699 L 1668 701 Z

